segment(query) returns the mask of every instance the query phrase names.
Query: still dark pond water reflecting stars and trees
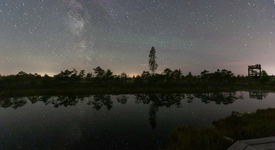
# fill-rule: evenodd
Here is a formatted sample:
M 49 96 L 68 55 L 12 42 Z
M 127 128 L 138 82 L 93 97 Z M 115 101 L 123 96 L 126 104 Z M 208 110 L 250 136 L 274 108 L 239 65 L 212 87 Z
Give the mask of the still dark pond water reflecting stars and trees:
M 0 97 L 0 149 L 156 149 L 180 125 L 275 107 L 275 94 Z

